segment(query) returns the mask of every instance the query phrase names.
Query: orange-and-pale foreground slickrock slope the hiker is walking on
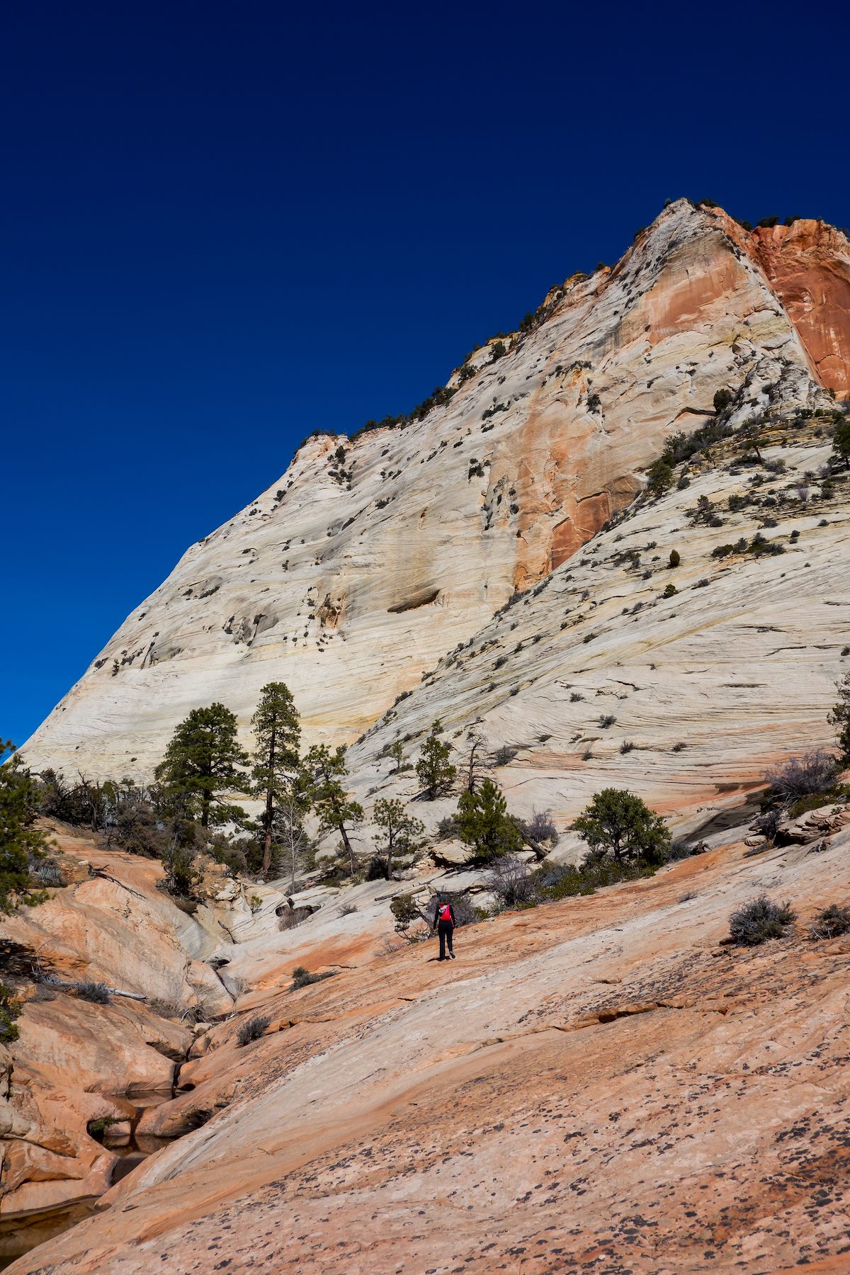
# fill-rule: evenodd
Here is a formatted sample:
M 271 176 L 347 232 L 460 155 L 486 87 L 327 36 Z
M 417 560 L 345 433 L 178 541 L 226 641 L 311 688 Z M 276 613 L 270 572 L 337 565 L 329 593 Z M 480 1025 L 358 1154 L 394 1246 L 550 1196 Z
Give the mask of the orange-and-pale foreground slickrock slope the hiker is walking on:
M 443 970 L 252 993 L 266 1035 L 215 1026 L 158 1125 L 226 1109 L 10 1275 L 846 1270 L 850 943 L 807 938 L 850 887 L 833 824 L 465 928 Z M 793 933 L 719 946 L 762 891 Z

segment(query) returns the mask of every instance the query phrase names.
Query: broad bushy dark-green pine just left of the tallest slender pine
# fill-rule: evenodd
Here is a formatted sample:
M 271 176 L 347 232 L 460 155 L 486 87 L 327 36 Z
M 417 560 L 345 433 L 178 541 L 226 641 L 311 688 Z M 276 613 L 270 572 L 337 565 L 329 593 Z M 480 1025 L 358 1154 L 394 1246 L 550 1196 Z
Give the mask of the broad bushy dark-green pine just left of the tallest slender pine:
M 249 792 L 241 769 L 249 756 L 236 738 L 236 718 L 223 704 L 192 709 L 171 737 L 157 779 L 176 797 L 186 798 L 187 813 L 200 812 L 201 827 L 228 824 L 243 816 L 238 806 L 220 801 L 219 793 Z

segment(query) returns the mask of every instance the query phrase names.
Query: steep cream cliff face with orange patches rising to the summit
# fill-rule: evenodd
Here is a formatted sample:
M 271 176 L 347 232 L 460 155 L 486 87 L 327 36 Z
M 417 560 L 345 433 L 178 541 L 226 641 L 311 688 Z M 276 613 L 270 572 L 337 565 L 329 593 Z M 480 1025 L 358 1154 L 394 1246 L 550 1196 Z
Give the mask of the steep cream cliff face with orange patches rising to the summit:
M 827 405 L 816 371 L 846 390 L 849 252 L 819 223 L 752 237 L 672 204 L 613 269 L 553 289 L 505 357 L 475 354 L 447 404 L 306 442 L 133 612 L 27 761 L 147 778 L 190 709 L 219 699 L 247 728 L 277 678 L 310 741 L 350 741 L 628 504 L 717 389 L 735 423 Z

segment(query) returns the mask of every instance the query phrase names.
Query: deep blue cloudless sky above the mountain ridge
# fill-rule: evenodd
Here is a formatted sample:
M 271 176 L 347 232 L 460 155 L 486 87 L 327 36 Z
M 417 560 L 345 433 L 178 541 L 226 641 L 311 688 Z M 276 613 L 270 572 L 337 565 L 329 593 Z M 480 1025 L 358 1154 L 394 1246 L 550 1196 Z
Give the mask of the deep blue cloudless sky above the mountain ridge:
M 306 433 L 419 402 L 665 198 L 846 224 L 842 11 L 4 6 L 0 737 Z

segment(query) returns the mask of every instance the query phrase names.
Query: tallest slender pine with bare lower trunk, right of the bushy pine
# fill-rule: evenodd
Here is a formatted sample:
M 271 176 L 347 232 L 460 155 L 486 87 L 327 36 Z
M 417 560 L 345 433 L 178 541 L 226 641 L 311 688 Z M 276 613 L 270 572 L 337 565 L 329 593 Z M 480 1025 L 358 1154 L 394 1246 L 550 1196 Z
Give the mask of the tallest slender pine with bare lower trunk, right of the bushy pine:
M 263 798 L 263 867 L 264 877 L 271 868 L 271 841 L 275 820 L 284 798 L 292 793 L 298 778 L 301 723 L 292 694 L 285 682 L 269 682 L 260 691 L 260 703 L 251 718 L 256 747 L 254 750 L 254 783 Z M 288 803 L 292 806 L 292 803 Z M 292 807 L 296 813 L 296 807 Z

